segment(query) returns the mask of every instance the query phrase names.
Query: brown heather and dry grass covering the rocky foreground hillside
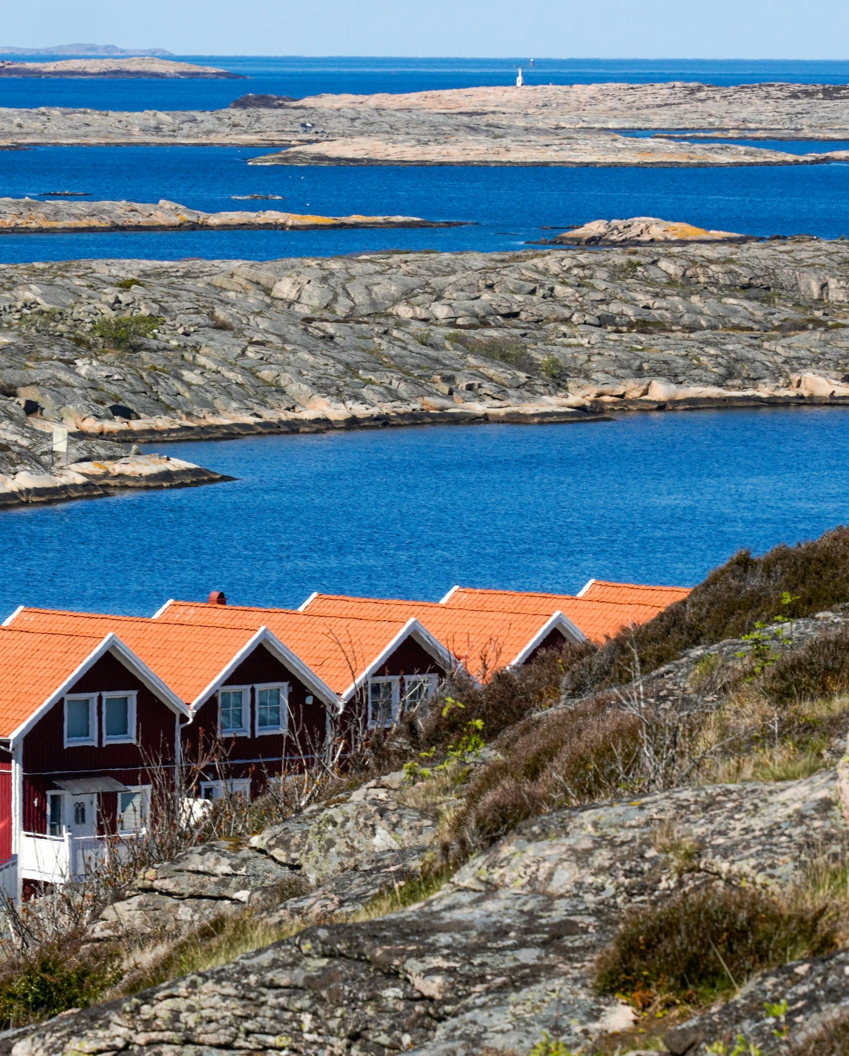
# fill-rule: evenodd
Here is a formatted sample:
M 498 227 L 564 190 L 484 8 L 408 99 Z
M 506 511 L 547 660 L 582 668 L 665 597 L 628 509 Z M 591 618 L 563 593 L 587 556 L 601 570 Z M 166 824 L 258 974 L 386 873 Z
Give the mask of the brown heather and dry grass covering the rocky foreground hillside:
M 307 807 L 345 803 L 382 774 L 404 771 L 398 805 L 429 815 L 438 838 L 420 873 L 382 889 L 360 921 L 428 898 L 472 853 L 553 810 L 697 782 L 814 774 L 843 754 L 849 733 L 849 629 L 842 610 L 822 624 L 808 618 L 847 602 L 849 530 L 841 528 L 763 558 L 741 552 L 686 601 L 601 647 L 548 650 L 482 683 L 457 672 L 428 706 L 402 714 L 391 729 L 351 732 L 344 759 L 335 731 L 317 765 L 269 782 L 252 804 L 225 796 L 187 813 L 162 774 L 158 822 L 130 857 L 115 856 L 91 885 L 42 899 L 37 910 L 7 910 L 0 1023 L 133 994 L 293 935 L 306 923 L 268 923 L 246 909 L 178 937 L 101 944 L 96 953 L 84 942 L 102 906 L 156 863 L 211 840 L 245 846 Z M 192 777 L 184 776 L 185 792 Z M 680 889 L 625 911 L 595 968 L 600 993 L 643 1013 L 700 1007 L 736 994 L 757 972 L 840 948 L 849 936 L 846 848 L 831 848 L 819 872 L 776 893 L 716 883 L 701 870 L 702 848 L 672 821 L 654 847 L 672 862 Z M 293 876 L 281 902 L 307 890 Z M 804 1056 L 842 1052 L 842 1032 L 824 1027 Z

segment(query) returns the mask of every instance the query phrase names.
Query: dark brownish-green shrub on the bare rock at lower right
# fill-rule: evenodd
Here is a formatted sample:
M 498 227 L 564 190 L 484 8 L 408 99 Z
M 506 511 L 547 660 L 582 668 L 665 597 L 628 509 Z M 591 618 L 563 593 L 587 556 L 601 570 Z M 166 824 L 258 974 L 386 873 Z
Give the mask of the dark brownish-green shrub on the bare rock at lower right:
M 632 910 L 596 962 L 596 986 L 638 1006 L 710 1001 L 756 972 L 834 946 L 826 903 L 791 907 L 752 887 L 713 886 Z

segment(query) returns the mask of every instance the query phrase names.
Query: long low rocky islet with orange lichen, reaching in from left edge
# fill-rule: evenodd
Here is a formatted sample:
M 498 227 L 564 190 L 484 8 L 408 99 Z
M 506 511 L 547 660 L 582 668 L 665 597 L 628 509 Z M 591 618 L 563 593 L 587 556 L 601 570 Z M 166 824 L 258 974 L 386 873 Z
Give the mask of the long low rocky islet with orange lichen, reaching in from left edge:
M 202 212 L 161 199 L 140 202 L 80 202 L 0 197 L 0 234 L 51 231 L 329 230 L 340 228 L 462 227 L 462 221 L 421 216 L 320 216 L 276 209 Z

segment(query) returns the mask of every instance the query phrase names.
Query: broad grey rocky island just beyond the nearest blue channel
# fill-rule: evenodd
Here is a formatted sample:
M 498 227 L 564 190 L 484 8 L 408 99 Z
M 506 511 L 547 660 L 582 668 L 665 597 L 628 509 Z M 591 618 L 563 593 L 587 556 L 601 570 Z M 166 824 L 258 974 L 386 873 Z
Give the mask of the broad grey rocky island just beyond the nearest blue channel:
M 584 229 L 600 230 L 625 245 L 6 265 L 0 472 L 44 471 L 54 423 L 80 463 L 261 433 L 849 404 L 849 244 Z

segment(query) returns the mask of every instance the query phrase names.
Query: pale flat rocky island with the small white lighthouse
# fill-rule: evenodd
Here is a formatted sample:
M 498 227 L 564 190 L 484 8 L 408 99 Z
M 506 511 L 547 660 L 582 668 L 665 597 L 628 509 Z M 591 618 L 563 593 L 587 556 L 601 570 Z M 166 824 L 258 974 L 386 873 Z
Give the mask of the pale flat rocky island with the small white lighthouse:
M 155 58 L 119 61 L 168 65 Z M 632 134 L 647 130 L 656 135 Z M 693 135 L 670 137 L 670 130 Z M 809 153 L 797 154 L 712 137 L 849 138 L 849 89 L 552 84 L 304 99 L 248 95 L 217 111 L 110 113 L 52 107 L 0 112 L 0 146 L 292 148 L 255 164 L 705 166 L 844 159 L 844 152 L 817 151 L 815 144 Z

